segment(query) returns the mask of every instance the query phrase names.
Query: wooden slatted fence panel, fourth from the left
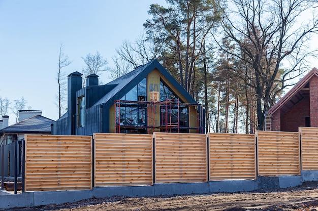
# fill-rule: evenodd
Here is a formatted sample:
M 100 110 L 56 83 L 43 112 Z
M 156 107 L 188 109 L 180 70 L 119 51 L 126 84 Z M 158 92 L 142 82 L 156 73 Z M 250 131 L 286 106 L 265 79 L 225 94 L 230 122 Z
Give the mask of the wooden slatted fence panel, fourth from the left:
M 210 133 L 210 180 L 256 179 L 255 136 Z

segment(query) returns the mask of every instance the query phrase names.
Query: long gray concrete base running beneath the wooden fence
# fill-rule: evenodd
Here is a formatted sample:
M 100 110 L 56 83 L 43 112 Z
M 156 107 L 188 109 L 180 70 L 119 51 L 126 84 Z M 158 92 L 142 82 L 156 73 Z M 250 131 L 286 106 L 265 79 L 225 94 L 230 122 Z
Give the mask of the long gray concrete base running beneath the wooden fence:
M 169 183 L 152 186 L 94 187 L 92 190 L 38 191 L 9 194 L 0 191 L 0 209 L 76 202 L 92 197 L 141 197 L 160 195 L 244 192 L 261 189 L 288 188 L 302 182 L 318 181 L 318 171 L 302 171 L 301 176 L 258 177 L 257 180 L 222 180 L 204 183 Z

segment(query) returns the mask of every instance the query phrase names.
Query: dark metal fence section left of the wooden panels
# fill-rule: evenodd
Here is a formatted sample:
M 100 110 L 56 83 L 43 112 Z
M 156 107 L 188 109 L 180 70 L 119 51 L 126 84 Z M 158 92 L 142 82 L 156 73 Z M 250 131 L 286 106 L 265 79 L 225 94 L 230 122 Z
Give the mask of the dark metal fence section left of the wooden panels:
M 17 194 L 18 177 L 22 176 L 24 191 L 24 146 L 24 139 L 0 146 L 1 190 L 4 190 L 4 178 L 14 177 L 14 194 Z

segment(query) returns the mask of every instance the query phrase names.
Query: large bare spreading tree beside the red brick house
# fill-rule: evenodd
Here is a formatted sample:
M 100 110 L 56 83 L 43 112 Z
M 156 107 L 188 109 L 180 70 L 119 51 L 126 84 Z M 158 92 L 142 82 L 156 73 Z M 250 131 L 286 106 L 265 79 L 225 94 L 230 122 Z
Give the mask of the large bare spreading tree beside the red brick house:
M 224 16 L 221 25 L 239 51 L 233 53 L 219 47 L 245 60 L 253 69 L 254 74 L 247 80 L 244 71 L 238 76 L 251 81 L 248 85 L 256 93 L 258 130 L 263 130 L 264 114 L 276 94 L 294 85 L 293 79 L 307 70 L 306 58 L 315 55 L 308 52 L 306 44 L 310 35 L 318 31 L 318 20 L 313 17 L 307 23 L 300 22 L 300 16 L 309 13 L 315 1 L 232 0 L 231 4 L 234 9 L 230 13 L 220 14 Z M 282 62 L 288 64 L 284 71 L 281 71 Z

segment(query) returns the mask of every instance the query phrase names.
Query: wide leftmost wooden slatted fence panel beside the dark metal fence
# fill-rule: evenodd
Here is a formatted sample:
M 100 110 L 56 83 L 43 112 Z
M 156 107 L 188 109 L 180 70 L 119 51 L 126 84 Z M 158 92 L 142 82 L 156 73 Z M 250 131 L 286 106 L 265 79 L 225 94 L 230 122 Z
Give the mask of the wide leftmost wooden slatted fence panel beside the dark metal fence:
M 25 191 L 91 189 L 91 136 L 25 135 Z

